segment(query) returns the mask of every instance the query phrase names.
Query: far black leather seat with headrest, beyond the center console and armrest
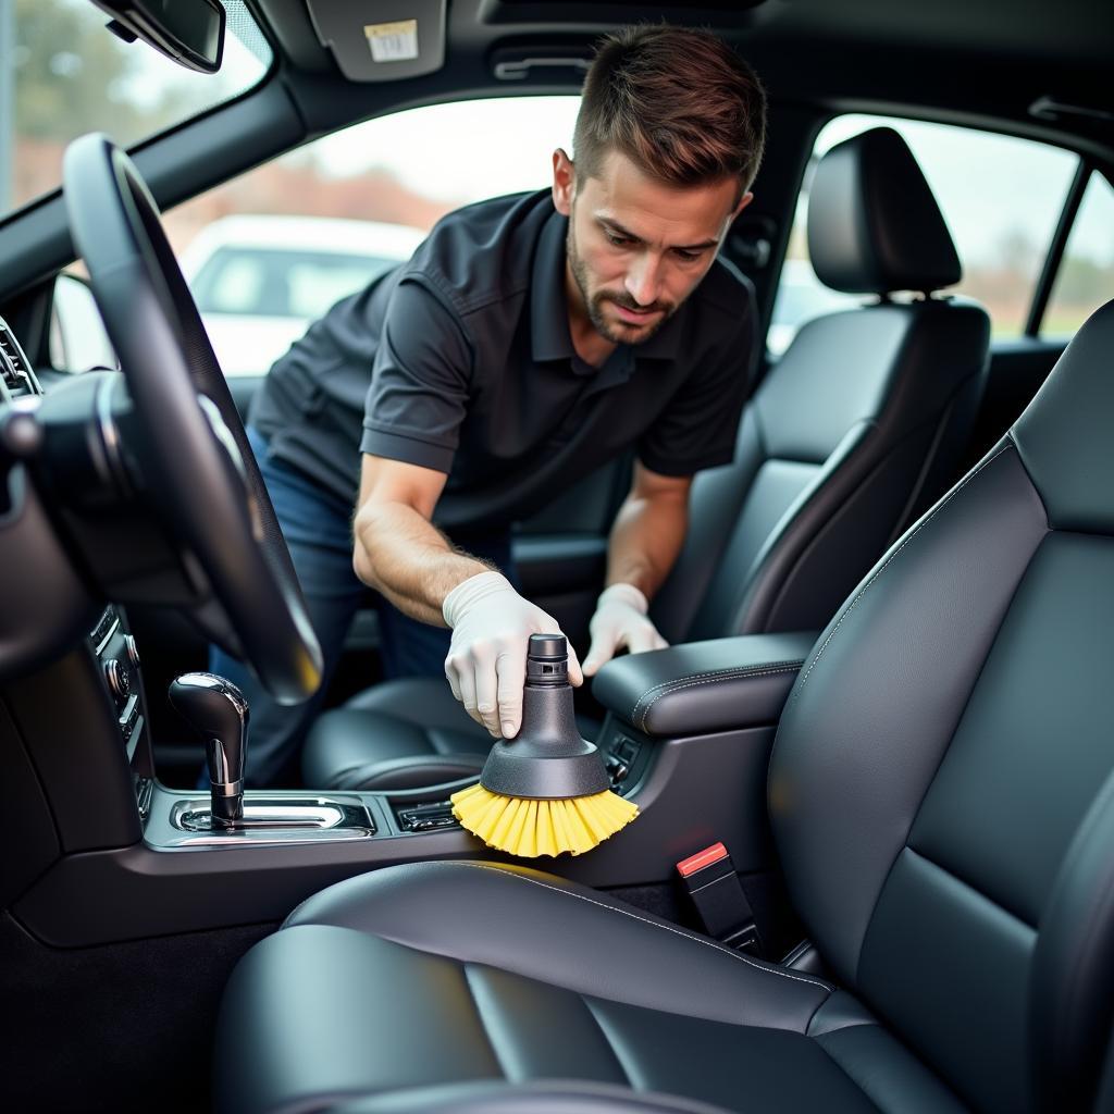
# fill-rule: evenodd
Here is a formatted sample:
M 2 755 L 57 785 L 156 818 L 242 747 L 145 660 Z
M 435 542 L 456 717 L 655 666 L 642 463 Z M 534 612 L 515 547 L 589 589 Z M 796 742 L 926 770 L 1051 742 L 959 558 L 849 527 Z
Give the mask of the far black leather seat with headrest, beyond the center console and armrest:
M 684 549 L 654 600 L 671 643 L 819 629 L 955 478 L 989 322 L 928 296 L 959 281 L 959 260 L 896 131 L 821 160 L 808 236 L 827 285 L 879 301 L 808 322 L 747 403 L 734 462 L 696 478 Z M 432 784 L 477 773 L 489 747 L 444 683 L 390 683 L 317 720 L 303 774 L 315 788 Z

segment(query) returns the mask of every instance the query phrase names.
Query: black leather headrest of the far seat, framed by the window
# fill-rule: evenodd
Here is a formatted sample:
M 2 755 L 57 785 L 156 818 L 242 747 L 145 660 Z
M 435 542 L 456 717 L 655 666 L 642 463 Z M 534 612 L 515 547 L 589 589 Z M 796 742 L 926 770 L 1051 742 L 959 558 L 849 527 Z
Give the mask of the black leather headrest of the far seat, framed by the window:
M 892 128 L 863 131 L 820 160 L 809 255 L 825 286 L 849 294 L 928 293 L 962 276 L 932 190 Z

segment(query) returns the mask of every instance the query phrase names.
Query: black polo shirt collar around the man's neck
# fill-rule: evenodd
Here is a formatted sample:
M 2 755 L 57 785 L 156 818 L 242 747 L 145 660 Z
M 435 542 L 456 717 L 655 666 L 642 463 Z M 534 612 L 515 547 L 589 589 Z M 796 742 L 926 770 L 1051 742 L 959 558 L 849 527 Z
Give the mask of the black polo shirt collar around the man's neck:
M 573 360 L 576 351 L 568 331 L 565 296 L 565 240 L 568 218 L 556 209 L 538 236 L 530 280 L 530 351 L 535 361 Z M 694 293 L 695 296 L 695 293 Z M 675 360 L 680 351 L 683 305 L 645 344 L 627 348 L 636 360 Z

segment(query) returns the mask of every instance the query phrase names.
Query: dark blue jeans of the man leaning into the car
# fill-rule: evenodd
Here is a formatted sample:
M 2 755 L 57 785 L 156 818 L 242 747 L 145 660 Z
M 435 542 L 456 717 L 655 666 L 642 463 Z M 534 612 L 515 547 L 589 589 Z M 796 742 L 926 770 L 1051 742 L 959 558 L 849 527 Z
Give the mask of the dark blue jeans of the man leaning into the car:
M 403 615 L 361 584 L 352 571 L 352 507 L 297 469 L 270 459 L 266 440 L 251 426 L 247 439 L 290 547 L 310 622 L 324 657 L 324 677 L 317 693 L 303 704 L 284 707 L 271 698 L 242 662 L 216 646 L 209 651 L 209 670 L 238 685 L 248 700 L 251 722 L 245 780 L 250 786 L 260 788 L 290 783 L 305 733 L 321 707 L 359 607 L 374 606 L 379 612 L 380 647 L 387 678 L 443 678 L 451 632 Z M 463 544 L 476 556 L 492 561 L 514 580 L 509 532 L 453 540 Z M 198 786 L 208 786 L 204 772 Z

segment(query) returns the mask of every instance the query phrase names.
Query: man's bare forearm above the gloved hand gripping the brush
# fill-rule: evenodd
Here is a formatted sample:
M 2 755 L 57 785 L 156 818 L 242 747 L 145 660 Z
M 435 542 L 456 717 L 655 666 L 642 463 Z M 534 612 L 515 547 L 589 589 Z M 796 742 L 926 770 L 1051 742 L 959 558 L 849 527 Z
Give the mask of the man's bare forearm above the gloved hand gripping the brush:
M 434 626 L 444 626 L 444 597 L 462 580 L 490 568 L 453 549 L 436 526 L 403 504 L 364 504 L 353 532 L 355 575 L 400 612 Z

